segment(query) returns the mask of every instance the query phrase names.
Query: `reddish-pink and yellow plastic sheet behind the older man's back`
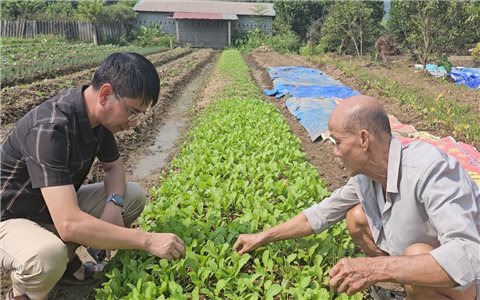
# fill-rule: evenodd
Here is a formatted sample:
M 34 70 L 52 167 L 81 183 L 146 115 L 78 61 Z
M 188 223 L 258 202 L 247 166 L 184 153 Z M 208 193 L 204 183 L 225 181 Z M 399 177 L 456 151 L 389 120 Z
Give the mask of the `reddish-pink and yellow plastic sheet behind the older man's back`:
M 451 136 L 439 139 L 416 139 L 408 137 L 399 137 L 399 139 L 403 144 L 409 144 L 419 140 L 427 142 L 448 155 L 455 157 L 460 165 L 470 173 L 477 185 L 480 186 L 480 153 L 473 145 L 456 142 Z

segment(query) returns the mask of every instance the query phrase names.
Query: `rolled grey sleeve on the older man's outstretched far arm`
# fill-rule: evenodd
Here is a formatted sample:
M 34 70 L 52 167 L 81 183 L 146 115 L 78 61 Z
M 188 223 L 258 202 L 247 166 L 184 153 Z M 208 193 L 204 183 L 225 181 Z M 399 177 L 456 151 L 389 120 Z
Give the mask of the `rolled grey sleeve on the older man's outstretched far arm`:
M 303 211 L 315 233 L 320 233 L 344 219 L 347 212 L 360 203 L 355 192 L 354 181 L 355 177 L 350 178 L 343 187 L 335 190 L 330 197 Z

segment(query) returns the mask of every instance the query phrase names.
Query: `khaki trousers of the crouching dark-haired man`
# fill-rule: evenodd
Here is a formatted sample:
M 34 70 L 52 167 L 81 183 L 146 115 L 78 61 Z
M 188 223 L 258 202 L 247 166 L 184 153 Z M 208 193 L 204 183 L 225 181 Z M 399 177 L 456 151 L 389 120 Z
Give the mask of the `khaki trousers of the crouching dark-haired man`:
M 104 184 L 82 186 L 77 198 L 82 211 L 99 218 L 107 199 Z M 129 182 L 124 199 L 123 222 L 125 227 L 130 227 L 143 211 L 145 193 L 140 185 Z M 12 285 L 31 299 L 47 298 L 79 246 L 64 243 L 52 224 L 38 224 L 28 219 L 0 222 L 1 267 L 10 271 Z

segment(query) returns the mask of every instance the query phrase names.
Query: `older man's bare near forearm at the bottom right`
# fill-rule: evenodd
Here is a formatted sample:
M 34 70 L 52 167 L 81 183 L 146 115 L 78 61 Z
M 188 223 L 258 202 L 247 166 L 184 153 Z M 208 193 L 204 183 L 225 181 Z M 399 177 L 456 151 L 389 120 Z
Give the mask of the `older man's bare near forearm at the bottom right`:
M 381 256 L 368 258 L 374 282 L 454 287 L 457 283 L 428 253 L 412 256 Z

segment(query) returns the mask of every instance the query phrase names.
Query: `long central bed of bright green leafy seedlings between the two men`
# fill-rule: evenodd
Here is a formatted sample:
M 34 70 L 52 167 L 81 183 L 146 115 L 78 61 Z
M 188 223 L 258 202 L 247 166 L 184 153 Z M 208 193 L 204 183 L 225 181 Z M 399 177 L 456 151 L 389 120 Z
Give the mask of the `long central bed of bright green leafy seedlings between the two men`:
M 239 234 L 283 222 L 328 192 L 282 116 L 259 100 L 239 52 L 225 51 L 216 72 L 232 86 L 196 120 L 139 219 L 144 230 L 181 237 L 186 258 L 119 251 L 97 299 L 348 299 L 328 288 L 330 267 L 354 252 L 345 223 L 234 251 Z

